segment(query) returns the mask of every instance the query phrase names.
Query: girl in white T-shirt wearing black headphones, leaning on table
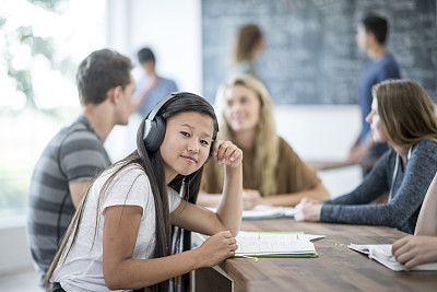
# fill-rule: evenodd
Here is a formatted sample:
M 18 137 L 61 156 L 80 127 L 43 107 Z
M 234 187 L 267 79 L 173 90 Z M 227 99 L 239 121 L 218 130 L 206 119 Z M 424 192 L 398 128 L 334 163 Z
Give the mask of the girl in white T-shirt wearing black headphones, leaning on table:
M 217 131 L 202 97 L 176 93 L 160 102 L 139 128 L 138 149 L 91 183 L 46 275 L 51 291 L 168 291 L 169 279 L 234 256 L 243 153 L 214 142 Z M 216 213 L 192 203 L 210 155 L 226 172 Z M 180 233 L 172 234 L 172 224 L 212 236 L 177 253 Z

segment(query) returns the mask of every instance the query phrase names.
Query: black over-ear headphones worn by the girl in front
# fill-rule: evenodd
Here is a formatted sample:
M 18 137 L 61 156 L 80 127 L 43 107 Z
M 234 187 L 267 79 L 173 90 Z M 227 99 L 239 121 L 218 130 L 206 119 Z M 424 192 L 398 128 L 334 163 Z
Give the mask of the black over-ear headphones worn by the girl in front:
M 152 109 L 152 112 L 147 116 L 147 119 L 145 120 L 145 124 L 144 124 L 143 141 L 144 141 L 145 149 L 147 151 L 156 152 L 164 141 L 166 124 L 165 124 L 165 119 L 161 116 L 162 107 L 166 103 L 168 103 L 170 100 L 173 100 L 175 97 L 184 98 L 184 95 L 187 95 L 187 94 L 192 95 L 192 93 L 188 93 L 188 92 L 172 92 L 169 95 L 167 95 L 166 97 L 161 100 L 155 105 L 155 107 Z M 210 159 L 212 157 L 212 149 L 213 149 L 216 137 L 217 137 L 217 132 L 214 130 L 214 133 L 212 136 L 211 145 L 210 145 L 210 153 L 208 155 L 205 163 L 209 162 Z

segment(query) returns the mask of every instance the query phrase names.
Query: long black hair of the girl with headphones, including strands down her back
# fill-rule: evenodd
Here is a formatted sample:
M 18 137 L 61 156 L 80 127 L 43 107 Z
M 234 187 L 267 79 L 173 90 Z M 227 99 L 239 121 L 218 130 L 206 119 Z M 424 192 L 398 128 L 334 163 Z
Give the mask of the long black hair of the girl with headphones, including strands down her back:
M 214 131 L 218 131 L 218 124 L 216 116 L 214 114 L 213 107 L 201 96 L 192 94 L 192 93 L 181 93 L 177 94 L 175 97 L 169 100 L 167 103 L 165 103 L 157 113 L 157 116 L 161 116 L 165 121 L 168 119 L 181 114 L 181 113 L 187 113 L 187 112 L 193 112 L 193 113 L 199 113 L 202 115 L 206 115 L 213 119 L 214 124 Z M 153 200 L 155 203 L 155 238 L 156 238 L 156 245 L 155 245 L 155 250 L 154 250 L 154 258 L 160 258 L 160 257 L 165 257 L 172 255 L 172 253 L 177 253 L 180 252 L 181 249 L 188 249 L 189 248 L 189 233 L 181 231 L 181 230 L 174 230 L 172 231 L 172 224 L 170 224 L 170 217 L 169 217 L 169 208 L 168 208 L 168 196 L 167 196 L 167 187 L 172 187 L 173 189 L 179 191 L 179 194 L 186 198 L 188 201 L 196 203 L 199 189 L 200 189 L 200 182 L 202 178 L 202 168 L 203 166 L 194 174 L 191 176 L 184 176 L 184 175 L 177 175 L 167 186 L 166 179 L 165 179 L 165 173 L 164 173 L 164 162 L 163 157 L 161 156 L 161 152 L 150 152 L 146 150 L 143 141 L 144 137 L 144 126 L 145 126 L 145 119 L 141 122 L 138 132 L 137 132 L 137 150 L 133 151 L 130 155 L 128 155 L 126 159 L 113 164 L 108 168 L 113 167 L 114 165 L 118 165 L 118 170 L 114 172 L 109 178 L 105 182 L 103 185 L 99 196 L 98 196 L 98 203 L 97 203 L 97 214 L 96 214 L 96 230 L 94 233 L 94 241 L 97 234 L 97 229 L 98 229 L 98 218 L 99 218 L 99 206 L 104 201 L 106 197 L 106 192 L 109 189 L 110 183 L 115 179 L 115 177 L 123 171 L 126 167 L 128 167 L 131 164 L 135 164 L 139 167 L 141 167 L 146 176 L 149 177 L 150 185 L 152 188 L 152 194 L 153 194 Z M 51 278 L 51 275 L 55 270 L 55 268 L 58 266 L 60 258 L 62 256 L 62 252 L 67 247 L 68 238 L 70 236 L 72 237 L 71 245 L 68 247 L 66 250 L 66 255 L 63 256 L 63 261 L 67 259 L 68 254 L 70 253 L 72 246 L 74 245 L 80 223 L 82 221 L 82 215 L 83 215 L 83 210 L 84 206 L 86 203 L 86 198 L 90 194 L 91 186 L 94 184 L 94 182 L 101 176 L 97 175 L 95 176 L 91 183 L 90 186 L 83 196 L 83 199 L 81 201 L 80 207 L 78 208 L 73 220 L 71 221 L 69 229 L 66 232 L 66 235 L 62 240 L 62 243 L 60 244 L 57 255 L 54 259 L 54 261 L 50 265 L 49 270 L 46 273 L 45 277 L 45 284 L 48 287 L 49 280 Z M 132 183 L 133 184 L 133 183 Z M 129 195 L 129 194 L 128 194 Z M 127 195 L 127 196 L 128 196 Z M 189 196 L 188 196 L 189 195 Z M 182 236 L 182 234 L 185 234 Z M 180 244 L 180 238 L 184 238 L 184 244 Z M 187 240 L 188 238 L 188 240 Z M 174 248 L 172 248 L 174 247 Z M 173 249 L 173 250 L 172 250 Z M 186 277 L 184 277 L 186 278 Z M 169 281 L 163 281 L 161 283 L 157 283 L 150 289 L 152 291 L 168 291 L 168 285 Z M 175 279 L 174 280 L 175 287 L 182 284 L 182 290 L 185 290 L 188 287 L 188 282 L 181 278 Z

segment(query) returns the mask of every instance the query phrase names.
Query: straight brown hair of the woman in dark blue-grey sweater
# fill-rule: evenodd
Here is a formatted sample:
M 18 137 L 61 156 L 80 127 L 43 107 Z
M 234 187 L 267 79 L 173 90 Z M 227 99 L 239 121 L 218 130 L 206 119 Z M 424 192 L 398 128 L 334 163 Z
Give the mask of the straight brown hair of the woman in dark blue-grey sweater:
M 371 94 L 390 142 L 406 148 L 421 140 L 437 142 L 435 106 L 416 82 L 387 80 L 374 85 Z

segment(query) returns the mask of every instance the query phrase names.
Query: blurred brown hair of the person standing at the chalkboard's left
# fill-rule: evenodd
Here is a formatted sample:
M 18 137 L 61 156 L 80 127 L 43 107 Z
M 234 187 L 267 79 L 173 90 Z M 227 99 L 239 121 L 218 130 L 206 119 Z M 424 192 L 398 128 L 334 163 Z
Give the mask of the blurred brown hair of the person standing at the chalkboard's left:
M 251 60 L 255 48 L 262 40 L 262 32 L 256 24 L 241 26 L 234 40 L 232 63 Z

